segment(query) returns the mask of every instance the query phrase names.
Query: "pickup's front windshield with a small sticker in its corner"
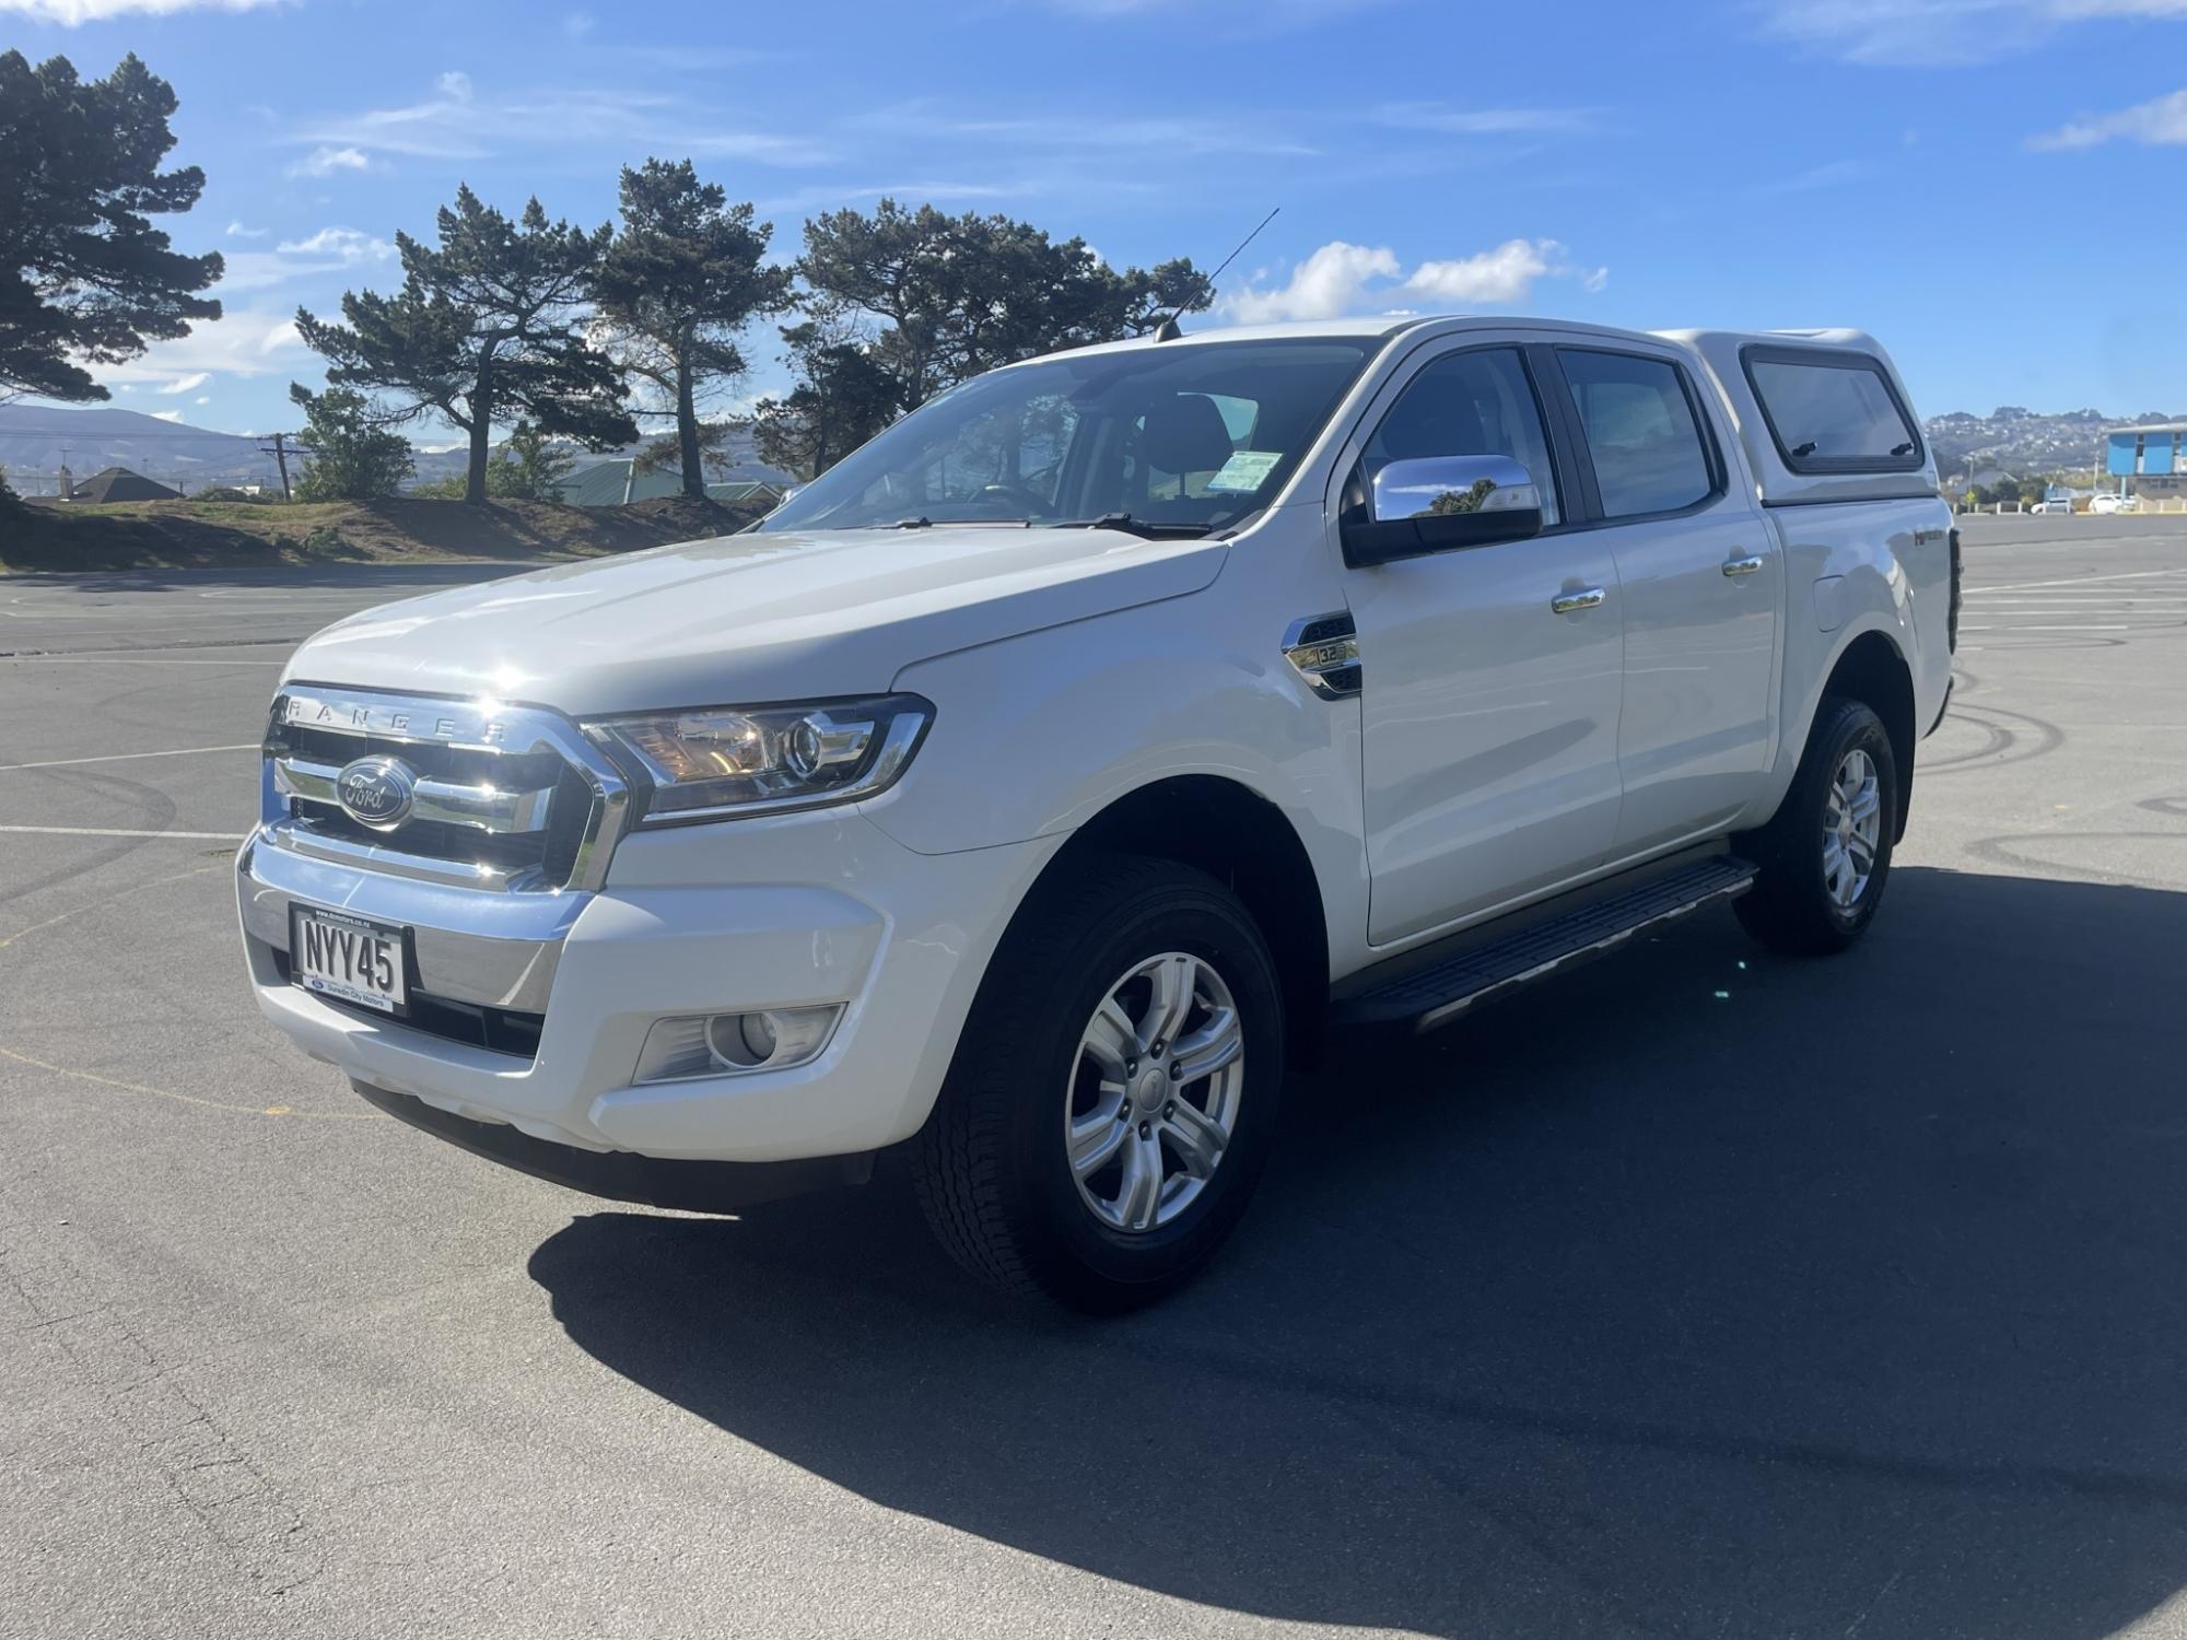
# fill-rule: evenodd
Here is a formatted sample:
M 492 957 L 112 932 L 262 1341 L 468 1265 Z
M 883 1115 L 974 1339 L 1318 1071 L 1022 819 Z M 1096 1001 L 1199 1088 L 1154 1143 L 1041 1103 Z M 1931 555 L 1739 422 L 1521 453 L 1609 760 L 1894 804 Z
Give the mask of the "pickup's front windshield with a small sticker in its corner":
M 1378 337 L 1059 354 L 929 400 L 759 527 L 1218 529 L 1275 499 Z

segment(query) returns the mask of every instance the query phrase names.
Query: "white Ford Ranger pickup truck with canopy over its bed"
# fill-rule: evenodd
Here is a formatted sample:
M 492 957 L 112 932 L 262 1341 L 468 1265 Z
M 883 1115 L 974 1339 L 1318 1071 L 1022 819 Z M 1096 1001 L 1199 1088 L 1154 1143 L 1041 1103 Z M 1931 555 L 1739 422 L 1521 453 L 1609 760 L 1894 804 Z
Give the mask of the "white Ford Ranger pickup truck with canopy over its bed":
M 901 1146 L 971 1270 L 1120 1308 L 1238 1220 L 1332 1023 L 1717 901 L 1852 945 L 1955 606 L 1857 332 L 1054 354 L 752 531 L 308 641 L 249 975 L 494 1161 L 728 1211 Z

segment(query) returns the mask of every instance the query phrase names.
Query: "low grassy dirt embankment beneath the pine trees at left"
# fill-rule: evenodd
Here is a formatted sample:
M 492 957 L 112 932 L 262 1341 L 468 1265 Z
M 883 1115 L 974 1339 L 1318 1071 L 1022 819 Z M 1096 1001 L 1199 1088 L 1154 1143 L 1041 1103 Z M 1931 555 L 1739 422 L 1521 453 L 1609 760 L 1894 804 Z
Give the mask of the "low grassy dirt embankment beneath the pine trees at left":
M 553 501 L 125 501 L 105 507 L 22 505 L 0 512 L 0 573 L 112 569 L 234 569 L 273 564 L 553 562 L 671 540 L 726 536 L 748 507 L 636 501 L 564 507 Z

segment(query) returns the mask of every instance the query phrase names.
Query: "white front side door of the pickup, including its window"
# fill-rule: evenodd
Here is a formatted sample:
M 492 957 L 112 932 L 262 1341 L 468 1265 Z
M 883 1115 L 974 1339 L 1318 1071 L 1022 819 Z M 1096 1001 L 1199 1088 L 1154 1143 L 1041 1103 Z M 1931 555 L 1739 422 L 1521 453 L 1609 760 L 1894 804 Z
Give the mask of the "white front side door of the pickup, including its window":
M 1586 872 L 1618 818 L 1625 599 L 1607 531 L 1572 531 L 1516 345 L 1461 348 L 1384 400 L 1384 461 L 1509 455 L 1544 534 L 1347 569 L 1363 663 L 1369 940 L 1387 945 Z

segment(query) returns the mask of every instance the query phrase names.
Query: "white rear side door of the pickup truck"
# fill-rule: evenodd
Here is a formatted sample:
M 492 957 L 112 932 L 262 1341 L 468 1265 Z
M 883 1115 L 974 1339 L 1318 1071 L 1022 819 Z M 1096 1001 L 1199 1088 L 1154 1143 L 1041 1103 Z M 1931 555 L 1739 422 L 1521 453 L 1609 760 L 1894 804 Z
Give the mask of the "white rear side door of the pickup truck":
M 1686 359 L 1623 339 L 1553 352 L 1625 599 L 1627 859 L 1721 827 L 1767 772 L 1785 558 Z

